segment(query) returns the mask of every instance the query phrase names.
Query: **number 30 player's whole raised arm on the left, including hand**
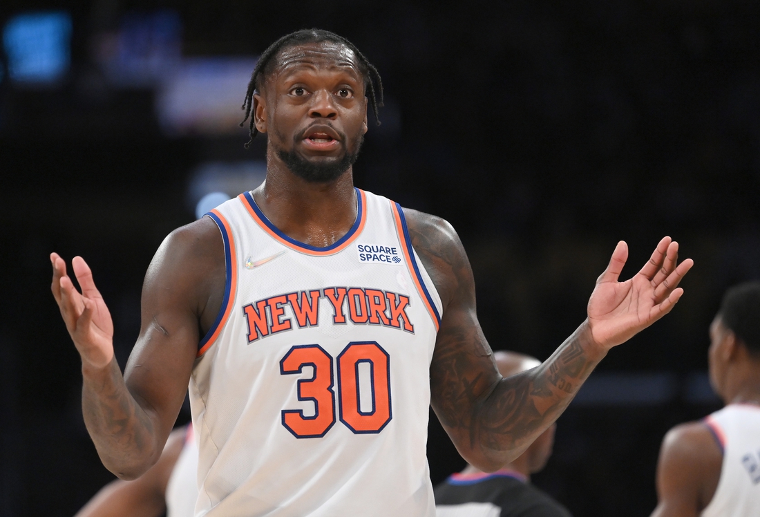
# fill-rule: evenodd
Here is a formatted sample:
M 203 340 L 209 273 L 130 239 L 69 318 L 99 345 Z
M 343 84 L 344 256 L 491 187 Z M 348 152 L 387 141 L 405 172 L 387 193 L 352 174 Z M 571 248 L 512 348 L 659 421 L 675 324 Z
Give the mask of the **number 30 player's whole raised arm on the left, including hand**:
M 113 355 L 111 316 L 80 257 L 82 292 L 53 253 L 52 293 L 82 359 L 82 413 L 103 465 L 122 479 L 158 460 L 187 392 L 198 336 L 211 327 L 224 287 L 224 248 L 204 217 L 170 234 L 150 263 L 141 331 L 124 376 Z

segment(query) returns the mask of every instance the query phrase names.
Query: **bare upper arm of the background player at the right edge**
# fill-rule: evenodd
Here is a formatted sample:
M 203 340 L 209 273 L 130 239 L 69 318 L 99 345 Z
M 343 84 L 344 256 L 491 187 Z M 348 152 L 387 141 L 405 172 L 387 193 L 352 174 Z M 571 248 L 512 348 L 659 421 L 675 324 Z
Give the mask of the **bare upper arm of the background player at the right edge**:
M 652 517 L 697 517 L 712 500 L 723 454 L 704 423 L 673 427 L 657 461 L 657 508 Z

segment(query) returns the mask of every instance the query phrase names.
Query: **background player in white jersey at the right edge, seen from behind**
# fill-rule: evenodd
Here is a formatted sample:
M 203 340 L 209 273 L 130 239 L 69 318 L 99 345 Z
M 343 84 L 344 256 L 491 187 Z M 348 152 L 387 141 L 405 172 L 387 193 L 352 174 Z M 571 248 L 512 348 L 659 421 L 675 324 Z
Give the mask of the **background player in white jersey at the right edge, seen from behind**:
M 724 296 L 710 325 L 708 363 L 727 405 L 665 436 L 653 517 L 760 515 L 760 282 Z

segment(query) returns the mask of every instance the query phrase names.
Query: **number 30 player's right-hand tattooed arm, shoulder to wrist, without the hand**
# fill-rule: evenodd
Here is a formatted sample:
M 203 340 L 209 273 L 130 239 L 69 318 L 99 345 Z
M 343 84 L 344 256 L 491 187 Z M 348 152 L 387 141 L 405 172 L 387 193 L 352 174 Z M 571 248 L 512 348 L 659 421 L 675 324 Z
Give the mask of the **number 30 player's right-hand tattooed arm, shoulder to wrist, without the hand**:
M 603 353 L 584 323 L 541 366 L 501 379 L 477 321 L 473 273 L 454 229 L 436 217 L 404 214 L 443 303 L 430 365 L 432 407 L 467 461 L 496 470 L 559 417 Z

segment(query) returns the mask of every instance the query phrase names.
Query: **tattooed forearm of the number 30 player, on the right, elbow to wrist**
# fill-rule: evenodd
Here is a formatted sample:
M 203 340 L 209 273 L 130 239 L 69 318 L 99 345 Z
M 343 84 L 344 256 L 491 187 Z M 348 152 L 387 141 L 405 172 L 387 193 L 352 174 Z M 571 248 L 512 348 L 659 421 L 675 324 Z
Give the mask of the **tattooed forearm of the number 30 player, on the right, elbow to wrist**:
M 565 411 L 605 355 L 584 322 L 543 364 L 496 382 L 474 408 L 470 440 L 480 468 L 494 470 L 521 455 Z

